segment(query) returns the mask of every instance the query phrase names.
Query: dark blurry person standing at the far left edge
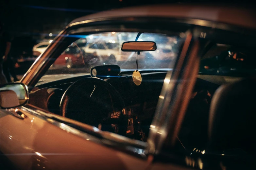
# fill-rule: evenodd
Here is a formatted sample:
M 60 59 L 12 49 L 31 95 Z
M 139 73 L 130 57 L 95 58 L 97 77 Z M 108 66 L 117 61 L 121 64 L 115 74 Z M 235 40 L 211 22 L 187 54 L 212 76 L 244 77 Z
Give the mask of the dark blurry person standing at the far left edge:
M 10 56 L 10 49 L 11 49 L 11 36 L 4 31 L 4 24 L 0 22 L 0 60 L 2 64 L 3 73 L 10 83 L 12 82 L 11 76 L 13 77 L 14 81 L 18 81 L 18 78 L 15 74 L 14 62 Z M 1 84 L 5 83 L 4 78 L 1 75 Z

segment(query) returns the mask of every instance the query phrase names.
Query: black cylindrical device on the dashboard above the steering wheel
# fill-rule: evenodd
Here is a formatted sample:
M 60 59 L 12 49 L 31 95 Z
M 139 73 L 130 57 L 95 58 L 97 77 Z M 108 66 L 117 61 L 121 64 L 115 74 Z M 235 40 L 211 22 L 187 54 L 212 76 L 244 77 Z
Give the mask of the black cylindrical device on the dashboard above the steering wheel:
M 100 76 L 118 76 L 121 72 L 119 65 L 110 64 L 110 65 L 99 65 L 91 68 L 90 74 L 91 77 L 100 77 Z

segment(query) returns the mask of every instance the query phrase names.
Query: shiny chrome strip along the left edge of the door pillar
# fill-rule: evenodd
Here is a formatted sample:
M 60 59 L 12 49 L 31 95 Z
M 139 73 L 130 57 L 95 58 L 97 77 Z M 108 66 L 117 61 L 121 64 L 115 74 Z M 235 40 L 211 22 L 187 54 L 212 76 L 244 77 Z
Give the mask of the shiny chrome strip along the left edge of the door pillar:
M 187 33 L 182 51 L 180 53 L 179 58 L 176 61 L 177 69 L 174 69 L 172 72 L 167 73 L 164 79 L 162 91 L 158 99 L 156 112 L 153 121 L 150 125 L 148 142 L 151 144 L 151 148 L 149 148 L 148 150 L 151 154 L 157 154 L 160 151 L 160 148 L 162 146 L 161 144 L 163 143 L 164 139 L 167 136 L 167 126 L 171 117 L 171 113 L 168 112 L 170 107 L 169 105 L 170 102 L 175 101 L 175 99 L 172 99 L 174 97 L 173 92 L 176 89 L 179 73 L 181 71 L 181 67 L 184 62 L 191 39 L 191 33 Z M 167 113 L 169 113 L 169 115 L 167 115 Z

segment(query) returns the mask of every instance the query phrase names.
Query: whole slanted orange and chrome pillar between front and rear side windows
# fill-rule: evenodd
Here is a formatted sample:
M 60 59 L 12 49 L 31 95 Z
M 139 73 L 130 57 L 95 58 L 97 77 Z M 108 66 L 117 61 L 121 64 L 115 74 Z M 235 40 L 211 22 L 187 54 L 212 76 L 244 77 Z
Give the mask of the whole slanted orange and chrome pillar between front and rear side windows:
M 199 68 L 198 50 L 197 37 L 188 31 L 184 46 L 176 61 L 176 68 L 168 72 L 164 79 L 156 112 L 150 125 L 149 154 L 159 154 L 167 140 L 170 146 L 174 146 L 176 142 L 196 82 Z

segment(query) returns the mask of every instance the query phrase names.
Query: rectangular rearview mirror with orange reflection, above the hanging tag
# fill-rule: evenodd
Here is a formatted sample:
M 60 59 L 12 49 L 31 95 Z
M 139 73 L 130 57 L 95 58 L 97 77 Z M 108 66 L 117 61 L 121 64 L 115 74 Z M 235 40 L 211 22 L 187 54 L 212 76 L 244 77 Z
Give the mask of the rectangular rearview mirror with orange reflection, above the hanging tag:
M 157 49 L 154 41 L 127 41 L 122 44 L 122 51 L 155 51 Z

